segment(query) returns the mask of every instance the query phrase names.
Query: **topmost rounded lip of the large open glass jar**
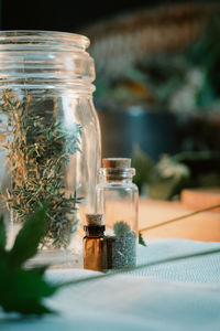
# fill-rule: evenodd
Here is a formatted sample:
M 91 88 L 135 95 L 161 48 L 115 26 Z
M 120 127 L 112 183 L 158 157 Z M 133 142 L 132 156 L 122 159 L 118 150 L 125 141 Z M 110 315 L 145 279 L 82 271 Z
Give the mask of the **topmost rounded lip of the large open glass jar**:
M 74 46 L 86 50 L 90 41 L 86 35 L 44 30 L 4 30 L 0 31 L 0 45 L 13 43 L 48 43 L 48 44 L 66 44 L 73 43 Z

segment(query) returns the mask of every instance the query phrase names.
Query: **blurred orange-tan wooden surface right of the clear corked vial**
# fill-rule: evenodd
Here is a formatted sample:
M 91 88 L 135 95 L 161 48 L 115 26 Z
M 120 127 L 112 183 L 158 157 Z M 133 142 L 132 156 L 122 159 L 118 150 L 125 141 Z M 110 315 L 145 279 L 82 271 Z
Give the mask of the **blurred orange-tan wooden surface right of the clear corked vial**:
M 211 204 L 210 204 L 211 205 Z M 198 209 L 186 206 L 182 202 L 164 202 L 140 199 L 139 227 L 147 226 L 179 217 Z M 220 213 L 204 212 L 143 232 L 144 238 L 187 238 L 205 242 L 220 242 Z

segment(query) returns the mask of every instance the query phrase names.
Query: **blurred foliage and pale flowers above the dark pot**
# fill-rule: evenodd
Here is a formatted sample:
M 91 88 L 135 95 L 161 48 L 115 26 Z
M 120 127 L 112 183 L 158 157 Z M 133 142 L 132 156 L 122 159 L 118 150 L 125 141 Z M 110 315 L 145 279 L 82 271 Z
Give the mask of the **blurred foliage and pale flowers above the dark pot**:
M 191 111 L 220 108 L 220 20 L 182 52 L 146 54 L 117 77 L 97 74 L 95 100 L 112 108 L 131 104 Z

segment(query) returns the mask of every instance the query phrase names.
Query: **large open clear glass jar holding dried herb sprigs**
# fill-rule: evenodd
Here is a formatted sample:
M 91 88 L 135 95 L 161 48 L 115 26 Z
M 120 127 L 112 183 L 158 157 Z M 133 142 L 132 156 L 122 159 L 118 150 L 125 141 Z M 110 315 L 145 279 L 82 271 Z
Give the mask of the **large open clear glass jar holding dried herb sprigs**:
M 0 32 L 0 203 L 9 246 L 50 201 L 41 248 L 52 263 L 81 252 L 80 224 L 95 207 L 100 130 L 88 45 L 73 33 Z

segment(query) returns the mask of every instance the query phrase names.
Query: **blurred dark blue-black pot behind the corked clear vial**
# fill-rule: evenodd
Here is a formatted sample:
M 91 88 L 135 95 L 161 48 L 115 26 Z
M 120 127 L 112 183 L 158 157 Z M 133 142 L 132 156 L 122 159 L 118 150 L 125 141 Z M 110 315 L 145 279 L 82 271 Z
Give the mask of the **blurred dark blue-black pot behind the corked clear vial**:
M 177 151 L 176 117 L 168 111 L 131 107 L 121 111 L 98 111 L 101 126 L 102 157 L 131 157 L 133 145 L 158 160 Z

